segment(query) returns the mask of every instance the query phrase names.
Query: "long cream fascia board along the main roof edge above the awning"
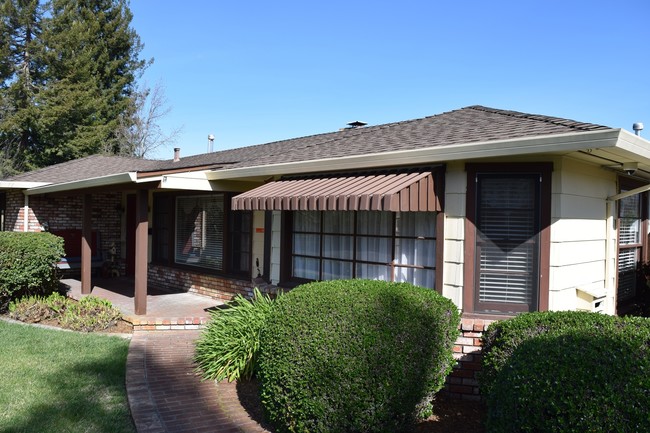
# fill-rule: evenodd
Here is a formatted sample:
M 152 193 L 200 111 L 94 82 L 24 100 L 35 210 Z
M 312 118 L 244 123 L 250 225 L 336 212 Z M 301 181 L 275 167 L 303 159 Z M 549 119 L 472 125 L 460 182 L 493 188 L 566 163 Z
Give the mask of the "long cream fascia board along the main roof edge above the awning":
M 209 180 L 316 173 L 336 170 L 369 169 L 449 161 L 521 156 L 531 154 L 563 154 L 578 150 L 615 147 L 620 129 L 569 134 L 554 134 L 508 140 L 435 146 L 423 149 L 398 150 L 342 158 L 325 158 L 254 167 L 232 168 L 206 173 Z

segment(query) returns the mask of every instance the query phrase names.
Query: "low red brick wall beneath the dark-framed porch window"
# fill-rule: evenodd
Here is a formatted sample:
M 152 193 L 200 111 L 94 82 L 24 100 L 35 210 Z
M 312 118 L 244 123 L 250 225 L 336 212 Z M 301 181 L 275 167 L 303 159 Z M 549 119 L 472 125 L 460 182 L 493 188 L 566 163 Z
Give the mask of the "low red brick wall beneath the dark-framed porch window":
M 149 284 L 164 290 L 197 293 L 223 302 L 230 301 L 237 294 L 250 298 L 255 287 L 251 281 L 202 274 L 200 270 L 193 272 L 154 263 L 149 264 L 147 278 Z

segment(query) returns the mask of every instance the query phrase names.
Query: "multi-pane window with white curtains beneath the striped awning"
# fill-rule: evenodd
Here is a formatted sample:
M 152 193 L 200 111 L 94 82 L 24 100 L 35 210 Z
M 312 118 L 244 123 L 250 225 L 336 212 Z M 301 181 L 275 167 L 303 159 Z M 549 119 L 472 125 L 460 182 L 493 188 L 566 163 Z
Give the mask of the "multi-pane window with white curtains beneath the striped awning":
M 291 276 L 366 278 L 434 288 L 436 213 L 296 211 Z

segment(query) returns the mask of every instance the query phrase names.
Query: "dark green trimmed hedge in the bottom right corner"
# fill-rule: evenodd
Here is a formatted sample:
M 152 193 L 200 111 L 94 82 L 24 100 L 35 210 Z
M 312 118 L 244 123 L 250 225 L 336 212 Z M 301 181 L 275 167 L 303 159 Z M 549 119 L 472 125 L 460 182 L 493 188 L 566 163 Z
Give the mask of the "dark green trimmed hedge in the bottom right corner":
M 488 432 L 650 431 L 650 321 L 522 314 L 484 335 Z

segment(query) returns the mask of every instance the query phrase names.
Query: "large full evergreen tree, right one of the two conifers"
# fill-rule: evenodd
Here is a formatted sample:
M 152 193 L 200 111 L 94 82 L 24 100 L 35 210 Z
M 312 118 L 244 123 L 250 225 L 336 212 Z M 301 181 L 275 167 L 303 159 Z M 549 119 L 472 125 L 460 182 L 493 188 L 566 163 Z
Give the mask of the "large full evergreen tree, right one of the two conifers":
M 126 0 L 52 0 L 43 39 L 49 85 L 39 165 L 115 147 L 119 119 L 147 62 Z

